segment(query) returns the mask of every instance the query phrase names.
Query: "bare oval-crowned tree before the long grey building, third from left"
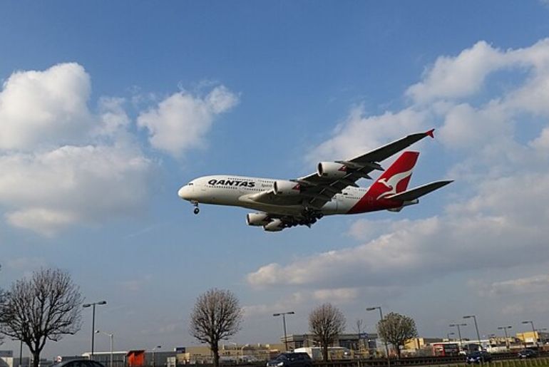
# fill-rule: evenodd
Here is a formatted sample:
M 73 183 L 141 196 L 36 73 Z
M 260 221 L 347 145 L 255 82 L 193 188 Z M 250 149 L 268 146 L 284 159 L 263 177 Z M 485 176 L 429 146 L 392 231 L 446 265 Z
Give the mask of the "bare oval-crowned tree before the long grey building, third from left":
M 345 316 L 332 304 L 322 304 L 309 314 L 309 330 L 322 346 L 322 358 L 328 361 L 328 346 L 345 330 Z

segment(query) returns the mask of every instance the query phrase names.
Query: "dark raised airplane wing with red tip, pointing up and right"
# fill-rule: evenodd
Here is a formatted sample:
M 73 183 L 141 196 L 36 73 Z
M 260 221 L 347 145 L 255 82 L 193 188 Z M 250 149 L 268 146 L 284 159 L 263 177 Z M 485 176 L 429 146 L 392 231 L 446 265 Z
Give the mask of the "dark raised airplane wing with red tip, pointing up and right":
M 407 135 L 350 160 L 321 162 L 317 172 L 292 181 L 299 183 L 300 195 L 307 200 L 307 204 L 314 209 L 320 209 L 345 187 L 358 187 L 356 181 L 360 178 L 371 179 L 369 172 L 383 170 L 379 164 L 382 160 L 399 153 L 426 136 L 434 138 L 433 131 L 434 129 L 431 129 L 425 133 Z

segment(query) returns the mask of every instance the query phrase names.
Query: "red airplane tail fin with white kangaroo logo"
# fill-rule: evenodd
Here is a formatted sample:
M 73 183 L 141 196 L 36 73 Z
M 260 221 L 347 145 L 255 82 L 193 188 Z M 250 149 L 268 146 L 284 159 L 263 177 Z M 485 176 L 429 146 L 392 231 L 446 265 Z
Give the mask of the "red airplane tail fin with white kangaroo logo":
M 379 200 L 406 191 L 418 157 L 419 152 L 402 153 L 371 185 L 369 194 Z

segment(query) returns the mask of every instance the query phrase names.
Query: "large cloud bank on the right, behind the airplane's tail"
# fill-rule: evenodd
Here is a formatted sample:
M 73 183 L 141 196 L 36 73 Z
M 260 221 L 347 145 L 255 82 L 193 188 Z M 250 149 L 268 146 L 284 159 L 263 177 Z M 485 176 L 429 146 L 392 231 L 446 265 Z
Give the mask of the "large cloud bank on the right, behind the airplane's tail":
M 250 285 L 408 286 L 452 272 L 549 262 L 543 230 L 549 220 L 549 40 L 506 51 L 481 41 L 441 56 L 403 97 L 406 108 L 381 115 L 354 108 L 307 159 L 351 157 L 436 127 L 441 145 L 430 152 L 452 157 L 447 176 L 458 180 L 442 214 L 359 219 L 349 229 L 358 245 L 266 264 L 247 274 Z

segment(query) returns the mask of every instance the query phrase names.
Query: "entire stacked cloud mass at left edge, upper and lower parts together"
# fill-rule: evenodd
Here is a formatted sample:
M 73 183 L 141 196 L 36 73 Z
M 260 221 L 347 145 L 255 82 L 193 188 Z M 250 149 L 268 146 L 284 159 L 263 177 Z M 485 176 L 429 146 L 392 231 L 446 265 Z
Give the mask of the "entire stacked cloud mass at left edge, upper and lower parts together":
M 19 71 L 0 93 L 0 207 L 14 227 L 52 236 L 143 207 L 154 163 L 133 143 L 121 98 L 87 106 L 76 63 Z

